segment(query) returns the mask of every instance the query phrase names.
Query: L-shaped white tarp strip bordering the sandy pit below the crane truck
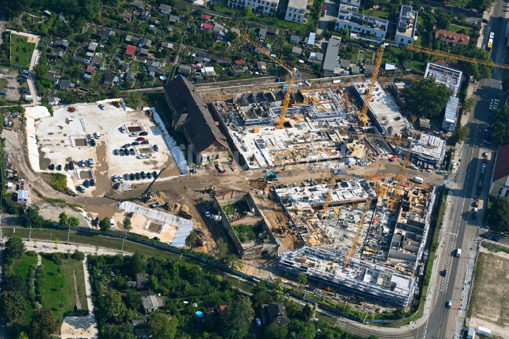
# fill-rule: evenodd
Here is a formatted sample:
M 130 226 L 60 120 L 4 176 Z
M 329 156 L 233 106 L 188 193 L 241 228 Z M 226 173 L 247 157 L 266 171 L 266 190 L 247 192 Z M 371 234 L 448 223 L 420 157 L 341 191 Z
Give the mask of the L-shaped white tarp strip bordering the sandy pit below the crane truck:
M 170 243 L 172 246 L 182 247 L 185 245 L 187 236 L 191 233 L 194 223 L 173 214 L 164 213 L 134 204 L 128 201 L 119 203 L 119 208 L 124 211 L 134 212 L 146 216 L 147 218 L 161 222 L 162 224 L 173 225 L 177 228 L 177 234 Z

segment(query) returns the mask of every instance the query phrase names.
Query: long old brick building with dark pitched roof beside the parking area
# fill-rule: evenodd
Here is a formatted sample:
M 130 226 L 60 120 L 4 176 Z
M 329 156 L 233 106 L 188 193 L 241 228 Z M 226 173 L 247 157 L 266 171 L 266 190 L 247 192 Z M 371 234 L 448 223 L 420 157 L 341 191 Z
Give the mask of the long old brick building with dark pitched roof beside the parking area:
M 226 137 L 189 80 L 178 75 L 168 82 L 164 86 L 164 98 L 173 115 L 172 127 L 184 132 L 194 162 L 201 165 L 228 156 Z

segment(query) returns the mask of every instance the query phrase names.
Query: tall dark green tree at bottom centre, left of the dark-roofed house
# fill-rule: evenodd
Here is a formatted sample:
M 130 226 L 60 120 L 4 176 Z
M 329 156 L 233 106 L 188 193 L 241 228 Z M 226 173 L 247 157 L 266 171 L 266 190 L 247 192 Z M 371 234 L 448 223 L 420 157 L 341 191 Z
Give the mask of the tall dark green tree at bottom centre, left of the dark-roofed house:
M 244 295 L 237 295 L 230 309 L 222 315 L 223 336 L 236 338 L 245 337 L 253 319 L 254 310 L 251 300 Z

